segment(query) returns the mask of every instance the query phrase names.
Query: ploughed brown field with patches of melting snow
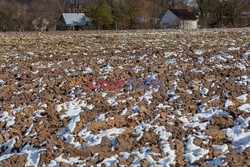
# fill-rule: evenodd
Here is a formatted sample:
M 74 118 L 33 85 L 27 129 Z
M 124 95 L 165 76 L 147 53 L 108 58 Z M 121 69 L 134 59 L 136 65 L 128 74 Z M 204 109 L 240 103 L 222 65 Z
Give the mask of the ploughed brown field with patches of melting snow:
M 250 166 L 249 55 L 249 28 L 0 33 L 0 166 Z

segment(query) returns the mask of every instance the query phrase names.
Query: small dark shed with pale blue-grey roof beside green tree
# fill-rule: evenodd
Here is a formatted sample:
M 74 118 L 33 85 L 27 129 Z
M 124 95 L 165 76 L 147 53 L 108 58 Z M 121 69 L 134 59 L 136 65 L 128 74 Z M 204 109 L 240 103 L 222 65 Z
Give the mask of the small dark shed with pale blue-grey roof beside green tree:
M 58 19 L 57 30 L 79 30 L 87 26 L 91 19 L 84 13 L 63 13 Z

